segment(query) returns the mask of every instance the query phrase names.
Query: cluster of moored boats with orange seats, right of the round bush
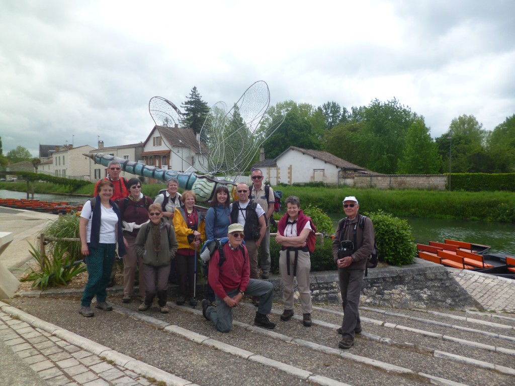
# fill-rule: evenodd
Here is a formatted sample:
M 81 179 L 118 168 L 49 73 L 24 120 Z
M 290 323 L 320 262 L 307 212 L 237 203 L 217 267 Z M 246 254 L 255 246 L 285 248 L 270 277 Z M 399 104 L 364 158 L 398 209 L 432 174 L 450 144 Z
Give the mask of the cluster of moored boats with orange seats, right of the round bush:
M 515 279 L 515 257 L 490 253 L 488 245 L 445 239 L 417 244 L 417 251 L 421 259 L 436 264 Z

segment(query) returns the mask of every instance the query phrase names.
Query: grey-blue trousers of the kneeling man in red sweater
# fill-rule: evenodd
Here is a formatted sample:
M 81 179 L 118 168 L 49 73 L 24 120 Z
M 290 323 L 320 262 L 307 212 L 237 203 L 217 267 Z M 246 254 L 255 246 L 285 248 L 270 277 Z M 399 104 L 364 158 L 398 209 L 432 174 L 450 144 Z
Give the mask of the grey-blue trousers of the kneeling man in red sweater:
M 236 296 L 239 289 L 227 292 L 229 297 Z M 264 315 L 270 313 L 273 301 L 273 284 L 265 280 L 250 279 L 246 295 L 259 296 L 258 312 Z M 232 327 L 232 307 L 229 307 L 223 299 L 215 294 L 216 307 L 209 306 L 205 311 L 206 316 L 213 322 L 220 332 L 229 332 Z

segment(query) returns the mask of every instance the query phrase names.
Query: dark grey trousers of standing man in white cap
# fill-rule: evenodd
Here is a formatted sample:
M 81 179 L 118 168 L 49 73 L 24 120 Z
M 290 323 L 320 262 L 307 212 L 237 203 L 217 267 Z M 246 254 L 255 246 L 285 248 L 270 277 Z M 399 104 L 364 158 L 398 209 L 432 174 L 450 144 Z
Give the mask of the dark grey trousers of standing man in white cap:
M 341 304 L 344 307 L 341 336 L 343 339 L 354 340 L 354 331 L 361 330 L 358 306 L 365 270 L 338 268 L 338 275 L 340 278 Z

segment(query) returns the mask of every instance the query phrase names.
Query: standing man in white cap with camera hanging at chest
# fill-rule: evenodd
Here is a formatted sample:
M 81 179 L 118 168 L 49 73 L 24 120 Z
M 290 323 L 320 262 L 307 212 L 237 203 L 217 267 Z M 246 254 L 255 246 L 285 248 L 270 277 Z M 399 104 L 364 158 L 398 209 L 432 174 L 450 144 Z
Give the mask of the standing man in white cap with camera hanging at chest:
M 333 258 L 338 266 L 344 320 L 338 333 L 341 334 L 340 348 L 351 348 L 355 334 L 361 332 L 359 319 L 359 295 L 368 256 L 374 247 L 374 224 L 366 217 L 364 226 L 359 226 L 359 205 L 354 196 L 344 199 L 346 218 L 338 222 L 333 240 Z

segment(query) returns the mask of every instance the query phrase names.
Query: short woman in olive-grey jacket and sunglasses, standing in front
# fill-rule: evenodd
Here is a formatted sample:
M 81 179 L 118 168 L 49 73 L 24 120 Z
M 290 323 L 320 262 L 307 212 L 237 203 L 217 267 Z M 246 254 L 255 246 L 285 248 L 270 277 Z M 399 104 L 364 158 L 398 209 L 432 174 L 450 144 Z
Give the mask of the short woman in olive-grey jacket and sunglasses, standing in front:
M 168 275 L 177 252 L 177 238 L 173 226 L 163 220 L 161 204 L 148 207 L 148 218 L 150 222 L 141 226 L 134 243 L 136 254 L 143 262 L 140 279 L 143 277 L 146 283 L 145 298 L 138 310 L 148 310 L 157 294 L 159 311 L 168 313 Z

